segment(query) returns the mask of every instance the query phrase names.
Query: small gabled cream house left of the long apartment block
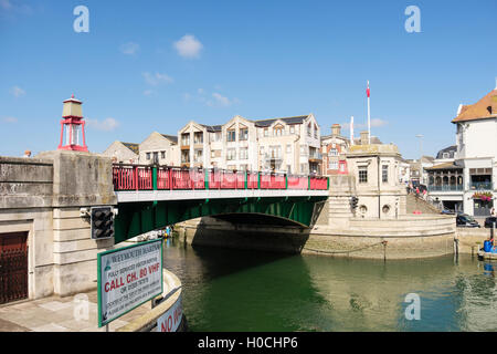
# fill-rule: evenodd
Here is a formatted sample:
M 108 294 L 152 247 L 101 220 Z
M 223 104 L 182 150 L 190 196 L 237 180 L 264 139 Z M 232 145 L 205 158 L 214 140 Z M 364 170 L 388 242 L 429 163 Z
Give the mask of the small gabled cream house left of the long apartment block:
M 138 160 L 140 165 L 160 164 L 178 166 L 178 137 L 158 132 L 151 133 L 139 145 Z

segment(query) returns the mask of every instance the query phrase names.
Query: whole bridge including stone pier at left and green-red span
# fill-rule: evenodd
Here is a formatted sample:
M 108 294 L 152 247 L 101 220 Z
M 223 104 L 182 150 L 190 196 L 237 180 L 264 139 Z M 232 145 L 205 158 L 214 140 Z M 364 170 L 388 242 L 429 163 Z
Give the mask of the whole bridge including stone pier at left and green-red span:
M 325 177 L 113 165 L 108 157 L 83 152 L 0 156 L 0 261 L 22 266 L 8 277 L 0 271 L 0 285 L 11 289 L 0 291 L 0 303 L 94 289 L 99 252 L 183 220 L 214 216 L 236 227 L 304 230 L 319 214 L 327 189 Z M 115 237 L 92 239 L 82 208 L 102 206 L 118 210 Z M 240 241 L 231 236 L 220 244 Z

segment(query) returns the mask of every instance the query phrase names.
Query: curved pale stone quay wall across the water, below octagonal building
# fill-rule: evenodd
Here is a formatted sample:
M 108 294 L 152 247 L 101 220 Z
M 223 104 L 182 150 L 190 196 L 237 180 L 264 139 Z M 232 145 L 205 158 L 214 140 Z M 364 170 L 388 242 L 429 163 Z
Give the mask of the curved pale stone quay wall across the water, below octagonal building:
M 175 229 L 181 241 L 192 246 L 369 259 L 452 254 L 457 238 L 454 217 L 442 215 L 403 216 L 395 220 L 352 218 L 348 229 L 324 225 L 313 229 L 232 225 L 204 217 L 178 223 Z M 459 249 L 463 252 L 467 249 Z

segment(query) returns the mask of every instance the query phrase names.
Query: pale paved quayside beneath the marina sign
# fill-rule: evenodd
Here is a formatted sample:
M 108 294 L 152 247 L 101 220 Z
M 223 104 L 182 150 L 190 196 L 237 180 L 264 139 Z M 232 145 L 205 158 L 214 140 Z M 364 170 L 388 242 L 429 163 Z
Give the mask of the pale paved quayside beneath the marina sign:
M 109 332 L 151 310 L 150 301 L 109 323 Z M 98 327 L 97 291 L 0 305 L 0 332 L 105 332 Z

